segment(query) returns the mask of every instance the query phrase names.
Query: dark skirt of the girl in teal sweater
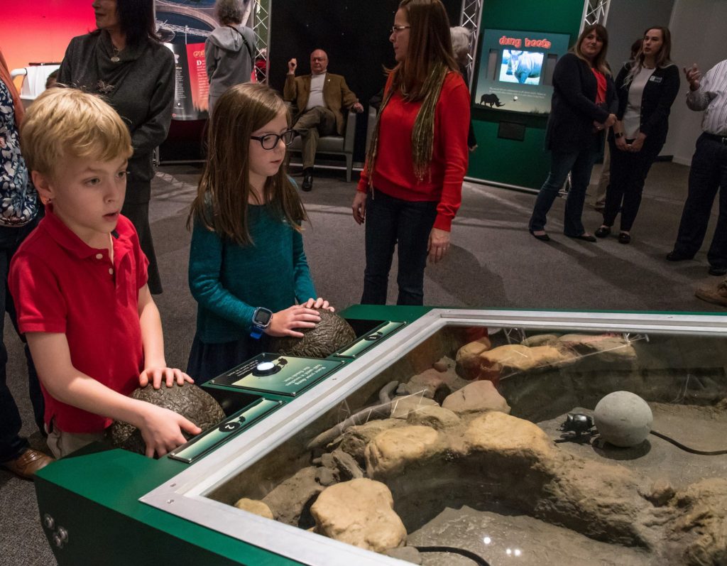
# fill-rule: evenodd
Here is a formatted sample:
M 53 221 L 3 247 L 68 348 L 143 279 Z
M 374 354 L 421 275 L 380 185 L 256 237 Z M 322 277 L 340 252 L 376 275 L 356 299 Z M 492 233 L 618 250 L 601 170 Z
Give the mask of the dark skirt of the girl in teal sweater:
M 196 385 L 206 383 L 257 354 L 262 354 L 266 351 L 268 340 L 268 335 L 263 334 L 260 340 L 246 336 L 234 342 L 206 344 L 195 335 L 189 353 L 187 373 Z

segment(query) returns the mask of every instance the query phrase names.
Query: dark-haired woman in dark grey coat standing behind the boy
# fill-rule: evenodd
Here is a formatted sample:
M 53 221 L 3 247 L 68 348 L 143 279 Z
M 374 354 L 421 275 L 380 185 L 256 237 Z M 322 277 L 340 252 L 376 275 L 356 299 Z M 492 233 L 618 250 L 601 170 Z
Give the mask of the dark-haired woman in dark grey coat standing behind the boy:
M 121 214 L 139 233 L 149 260 L 149 290 L 161 279 L 149 228 L 152 156 L 169 132 L 174 103 L 174 55 L 156 36 L 153 0 L 95 0 L 98 29 L 74 37 L 58 70 L 58 82 L 103 95 L 129 126 L 129 159 Z

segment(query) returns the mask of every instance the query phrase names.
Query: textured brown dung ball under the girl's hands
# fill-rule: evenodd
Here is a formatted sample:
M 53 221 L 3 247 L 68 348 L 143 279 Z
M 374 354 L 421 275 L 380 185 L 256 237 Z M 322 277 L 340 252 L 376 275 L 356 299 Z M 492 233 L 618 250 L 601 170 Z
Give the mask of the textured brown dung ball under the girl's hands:
M 356 338 L 356 332 L 345 319 L 331 311 L 318 311 L 321 322 L 315 328 L 300 328 L 303 338 L 273 338 L 270 351 L 285 356 L 327 358 Z

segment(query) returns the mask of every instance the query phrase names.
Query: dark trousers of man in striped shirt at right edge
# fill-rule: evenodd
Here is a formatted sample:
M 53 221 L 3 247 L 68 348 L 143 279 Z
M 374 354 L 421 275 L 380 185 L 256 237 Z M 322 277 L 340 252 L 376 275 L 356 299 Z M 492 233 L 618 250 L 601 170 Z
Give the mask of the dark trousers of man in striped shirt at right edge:
M 719 191 L 719 215 L 707 260 L 712 267 L 727 267 L 727 145 L 702 134 L 691 158 L 689 192 L 684 203 L 674 250 L 694 257 L 702 247 L 710 212 Z

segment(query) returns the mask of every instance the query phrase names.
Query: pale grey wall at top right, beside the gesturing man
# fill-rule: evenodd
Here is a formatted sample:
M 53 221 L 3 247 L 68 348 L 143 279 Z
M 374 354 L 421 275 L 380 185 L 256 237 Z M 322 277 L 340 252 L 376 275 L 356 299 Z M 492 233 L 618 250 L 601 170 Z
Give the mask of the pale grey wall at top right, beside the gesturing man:
M 672 32 L 672 60 L 680 68 L 692 63 L 706 73 L 713 65 L 727 58 L 725 22 L 727 1 L 675 0 L 670 30 Z M 674 162 L 691 164 L 694 142 L 702 132 L 702 113 L 686 107 L 686 79 L 682 73 L 682 89 L 672 106 L 669 119 L 669 137 L 662 150 L 673 155 Z

